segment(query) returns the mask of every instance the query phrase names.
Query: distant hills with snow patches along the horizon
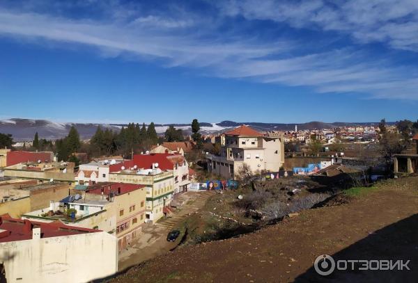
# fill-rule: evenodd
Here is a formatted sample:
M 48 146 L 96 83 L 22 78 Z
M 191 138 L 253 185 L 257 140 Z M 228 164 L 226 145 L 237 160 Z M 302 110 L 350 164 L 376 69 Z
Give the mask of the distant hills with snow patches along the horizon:
M 295 129 L 332 129 L 335 127 L 349 127 L 356 125 L 377 125 L 378 122 L 356 123 L 356 122 L 307 122 L 302 124 L 279 124 L 279 123 L 259 123 L 259 122 L 233 122 L 222 121 L 219 123 L 201 122 L 202 134 L 217 134 L 227 129 L 233 129 L 241 124 L 247 124 L 258 131 L 291 131 Z M 394 124 L 388 122 L 387 124 Z M 70 127 L 74 125 L 79 131 L 82 139 L 88 139 L 93 136 L 98 125 L 102 128 L 119 131 L 125 124 L 92 124 L 92 123 L 57 123 L 49 120 L 33 120 L 13 118 L 8 120 L 0 120 L 0 133 L 12 134 L 14 140 L 31 140 L 36 132 L 40 138 L 57 139 L 63 138 L 68 134 Z M 155 129 L 158 134 L 163 134 L 171 124 L 155 124 Z M 183 129 L 185 134 L 190 134 L 192 127 L 190 124 L 173 124 L 177 129 Z

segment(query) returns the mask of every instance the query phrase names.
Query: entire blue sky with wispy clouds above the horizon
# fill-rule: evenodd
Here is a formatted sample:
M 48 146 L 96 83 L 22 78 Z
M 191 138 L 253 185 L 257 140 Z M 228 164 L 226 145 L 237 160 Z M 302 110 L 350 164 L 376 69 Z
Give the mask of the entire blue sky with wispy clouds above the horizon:
M 418 1 L 2 0 L 0 119 L 418 118 Z

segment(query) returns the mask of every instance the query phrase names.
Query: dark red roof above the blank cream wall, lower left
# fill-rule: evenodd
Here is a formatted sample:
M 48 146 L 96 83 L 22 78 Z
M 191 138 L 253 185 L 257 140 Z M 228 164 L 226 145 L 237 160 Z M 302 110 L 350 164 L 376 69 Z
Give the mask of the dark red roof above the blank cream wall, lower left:
M 43 223 L 12 218 L 8 214 L 3 214 L 0 216 L 0 243 L 31 240 L 33 228 L 40 228 L 41 238 L 100 232 L 95 229 L 68 226 L 61 221 Z

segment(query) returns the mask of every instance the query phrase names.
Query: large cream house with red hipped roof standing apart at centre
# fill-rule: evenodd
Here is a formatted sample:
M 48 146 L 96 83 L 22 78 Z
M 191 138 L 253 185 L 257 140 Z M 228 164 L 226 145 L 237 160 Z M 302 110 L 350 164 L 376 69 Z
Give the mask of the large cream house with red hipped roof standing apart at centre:
M 284 136 L 264 136 L 242 125 L 225 133 L 219 156 L 208 154 L 208 170 L 214 175 L 235 178 L 243 163 L 256 171 L 279 171 L 284 164 Z

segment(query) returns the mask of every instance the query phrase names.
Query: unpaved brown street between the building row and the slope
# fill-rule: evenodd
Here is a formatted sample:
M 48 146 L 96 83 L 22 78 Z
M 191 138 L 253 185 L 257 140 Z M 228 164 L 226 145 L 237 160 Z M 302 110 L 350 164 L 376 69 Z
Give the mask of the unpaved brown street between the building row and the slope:
M 203 207 L 206 199 L 211 195 L 210 192 L 187 192 L 178 197 L 184 202 L 180 211 L 174 213 L 171 218 L 162 220 L 155 225 L 144 226 L 143 233 L 127 249 L 119 254 L 119 270 L 125 270 L 130 266 L 141 264 L 148 259 L 153 259 L 161 254 L 169 252 L 178 245 L 178 241 L 170 243 L 167 241 L 168 232 L 175 228 L 181 220 L 189 213 L 194 213 Z

